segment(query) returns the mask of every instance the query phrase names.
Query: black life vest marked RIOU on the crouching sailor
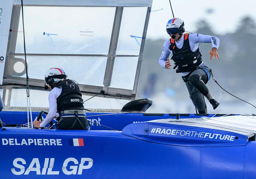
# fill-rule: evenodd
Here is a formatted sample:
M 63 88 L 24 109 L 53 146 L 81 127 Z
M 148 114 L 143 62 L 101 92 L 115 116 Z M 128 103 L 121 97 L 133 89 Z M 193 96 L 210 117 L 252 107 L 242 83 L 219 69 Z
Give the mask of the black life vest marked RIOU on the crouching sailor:
M 62 91 L 57 98 L 57 111 L 64 110 L 84 110 L 84 102 L 82 94 L 76 83 L 70 79 L 63 80 L 57 87 L 61 87 Z

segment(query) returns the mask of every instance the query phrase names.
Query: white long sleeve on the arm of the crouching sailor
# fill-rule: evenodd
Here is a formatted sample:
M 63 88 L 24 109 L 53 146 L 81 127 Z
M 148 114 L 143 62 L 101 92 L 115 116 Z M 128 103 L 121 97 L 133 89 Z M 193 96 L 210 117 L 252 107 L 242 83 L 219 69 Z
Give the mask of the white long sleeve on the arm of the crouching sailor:
M 55 117 L 59 117 L 57 112 L 57 98 L 60 96 L 62 88 L 53 88 L 48 96 L 49 100 L 49 113 L 45 117 L 44 121 L 40 124 L 40 127 L 44 127 L 49 124 Z

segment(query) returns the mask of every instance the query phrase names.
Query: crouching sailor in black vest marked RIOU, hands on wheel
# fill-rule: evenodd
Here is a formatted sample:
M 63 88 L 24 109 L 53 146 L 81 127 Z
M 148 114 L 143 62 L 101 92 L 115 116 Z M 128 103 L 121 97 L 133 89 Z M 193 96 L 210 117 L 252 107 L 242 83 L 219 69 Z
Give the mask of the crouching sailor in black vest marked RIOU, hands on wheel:
M 45 127 L 57 117 L 56 129 L 89 130 L 82 94 L 76 83 L 67 79 L 66 73 L 60 68 L 50 68 L 45 74 L 45 81 L 44 89 L 49 87 L 51 90 L 48 97 L 49 113 L 43 122 L 35 120 L 34 126 Z

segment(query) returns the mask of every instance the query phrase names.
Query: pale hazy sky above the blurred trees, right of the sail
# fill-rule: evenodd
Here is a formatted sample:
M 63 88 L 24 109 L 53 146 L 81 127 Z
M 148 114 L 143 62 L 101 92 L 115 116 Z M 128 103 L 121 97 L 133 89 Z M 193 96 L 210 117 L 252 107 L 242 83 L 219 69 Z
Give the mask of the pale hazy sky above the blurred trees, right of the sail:
M 171 0 L 171 3 L 174 17 L 182 19 L 185 29 L 192 33 L 195 33 L 199 19 L 206 19 L 217 34 L 234 32 L 240 19 L 246 15 L 256 21 L 255 0 Z M 213 12 L 208 14 L 207 9 L 213 9 Z M 165 25 L 172 18 L 169 0 L 153 0 L 151 10 L 147 38 L 168 38 Z

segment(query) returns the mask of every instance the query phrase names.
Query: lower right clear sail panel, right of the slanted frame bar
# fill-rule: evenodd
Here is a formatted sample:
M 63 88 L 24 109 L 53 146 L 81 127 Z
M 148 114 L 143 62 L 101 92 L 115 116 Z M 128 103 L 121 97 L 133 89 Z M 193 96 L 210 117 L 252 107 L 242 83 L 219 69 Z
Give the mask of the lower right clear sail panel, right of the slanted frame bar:
M 110 87 L 133 89 L 138 57 L 116 57 Z

